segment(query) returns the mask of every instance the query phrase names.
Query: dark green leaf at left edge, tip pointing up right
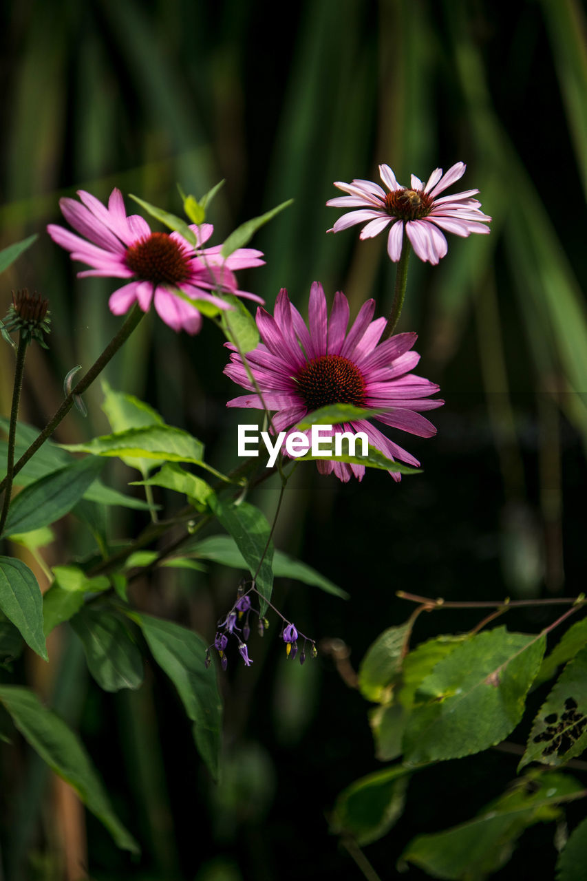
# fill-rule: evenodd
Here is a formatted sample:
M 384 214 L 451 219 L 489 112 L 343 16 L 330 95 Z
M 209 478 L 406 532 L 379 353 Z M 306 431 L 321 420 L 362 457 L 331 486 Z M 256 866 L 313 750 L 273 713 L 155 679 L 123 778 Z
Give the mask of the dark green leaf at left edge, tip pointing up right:
M 30 532 L 68 514 L 102 467 L 100 459 L 88 456 L 26 486 L 11 501 L 3 534 Z

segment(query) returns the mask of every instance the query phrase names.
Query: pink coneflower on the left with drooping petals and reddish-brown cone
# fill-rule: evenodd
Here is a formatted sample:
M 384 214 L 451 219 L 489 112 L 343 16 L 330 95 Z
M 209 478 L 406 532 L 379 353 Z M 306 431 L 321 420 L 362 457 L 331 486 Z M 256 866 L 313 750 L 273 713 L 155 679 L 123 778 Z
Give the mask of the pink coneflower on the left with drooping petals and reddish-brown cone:
M 79 278 L 131 279 L 108 301 L 115 315 L 128 312 L 134 302 L 146 312 L 153 302 L 169 327 L 193 335 L 202 327 L 202 315 L 197 306 L 182 300 L 174 289 L 179 289 L 190 300 L 206 300 L 221 309 L 230 307 L 212 291 L 264 302 L 255 294 L 237 290 L 232 271 L 262 265 L 261 251 L 239 248 L 224 260 L 220 245 L 201 248 L 212 235 L 212 224 L 190 226 L 197 238 L 198 248 L 194 249 L 179 233 L 152 233 L 145 218 L 137 214 L 127 217 L 119 189 L 112 190 L 108 208 L 83 189 L 78 190 L 78 196 L 81 204 L 75 199 L 64 198 L 60 199 L 59 205 L 68 223 L 90 241 L 70 233 L 63 226 L 49 224 L 47 230 L 53 241 L 71 251 L 72 260 L 93 267 L 78 272 Z

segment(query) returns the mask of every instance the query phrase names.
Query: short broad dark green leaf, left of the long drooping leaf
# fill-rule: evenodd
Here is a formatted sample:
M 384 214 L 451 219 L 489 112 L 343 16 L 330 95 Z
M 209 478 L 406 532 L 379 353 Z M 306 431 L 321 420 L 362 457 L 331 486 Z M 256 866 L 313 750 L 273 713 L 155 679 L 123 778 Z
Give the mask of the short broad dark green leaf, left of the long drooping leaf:
M 87 606 L 70 621 L 85 652 L 88 670 L 105 692 L 137 689 L 143 658 L 128 626 L 113 611 Z

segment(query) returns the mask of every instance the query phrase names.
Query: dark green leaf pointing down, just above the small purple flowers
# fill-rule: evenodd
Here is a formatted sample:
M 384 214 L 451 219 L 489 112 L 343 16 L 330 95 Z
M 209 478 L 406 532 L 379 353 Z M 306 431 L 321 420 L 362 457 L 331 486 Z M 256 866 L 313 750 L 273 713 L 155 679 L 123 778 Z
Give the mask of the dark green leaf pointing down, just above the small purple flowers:
M 269 542 L 271 529 L 265 515 L 249 502 L 232 505 L 211 496 L 209 505 L 212 513 L 224 526 L 245 559 L 249 572 L 256 579 L 256 589 L 260 593 L 259 611 L 263 617 L 267 611 L 265 600 L 271 600 L 273 588 L 273 543 Z M 269 544 L 267 544 L 269 542 Z M 265 552 L 266 548 L 266 552 Z M 263 559 L 263 562 L 261 562 Z M 258 569 L 258 573 L 257 573 Z

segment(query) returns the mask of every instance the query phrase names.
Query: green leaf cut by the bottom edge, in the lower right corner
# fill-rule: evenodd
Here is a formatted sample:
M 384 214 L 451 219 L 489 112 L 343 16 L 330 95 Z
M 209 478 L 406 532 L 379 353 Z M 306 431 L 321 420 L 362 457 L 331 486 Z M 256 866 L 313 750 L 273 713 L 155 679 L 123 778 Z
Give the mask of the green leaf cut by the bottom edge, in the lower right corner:
M 480 881 L 508 862 L 524 829 L 561 817 L 557 799 L 580 789 L 574 778 L 564 774 L 526 778 L 487 804 L 475 819 L 445 832 L 417 835 L 400 863 L 413 862 L 436 878 Z

